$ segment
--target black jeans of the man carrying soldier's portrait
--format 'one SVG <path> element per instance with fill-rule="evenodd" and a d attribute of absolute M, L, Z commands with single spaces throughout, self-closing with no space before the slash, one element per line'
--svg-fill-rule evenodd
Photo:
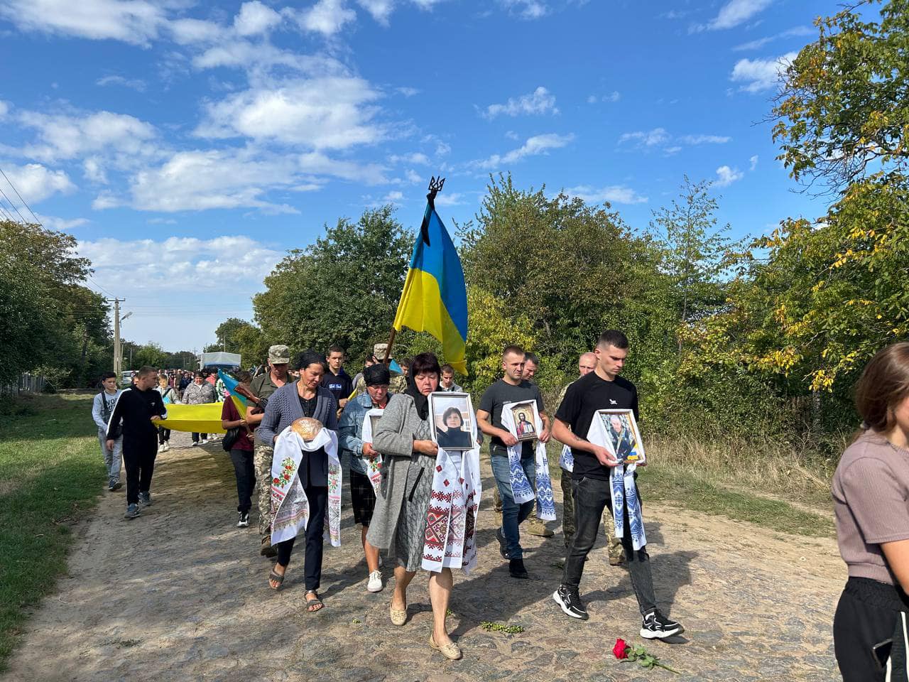
<path fill-rule="evenodd" d="M 584 477 L 580 481 L 572 479 L 574 490 L 574 537 L 568 545 L 562 584 L 571 589 L 578 589 L 581 575 L 584 573 L 584 562 L 594 548 L 596 534 L 599 532 L 603 510 L 610 511 L 613 498 L 609 490 L 609 481 Z M 638 496 L 640 499 L 640 496 Z M 624 532 L 622 548 L 628 562 L 628 573 L 631 574 L 631 585 L 641 615 L 645 616 L 656 608 L 654 595 L 654 577 L 650 571 L 650 556 L 647 547 L 634 550 L 631 544 L 631 528 L 628 527 L 628 515 L 624 515 Z"/>

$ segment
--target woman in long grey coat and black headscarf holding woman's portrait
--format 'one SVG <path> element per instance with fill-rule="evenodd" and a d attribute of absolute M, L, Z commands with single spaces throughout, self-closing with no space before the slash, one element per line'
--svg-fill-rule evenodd
<path fill-rule="evenodd" d="M 395 593 L 391 620 L 407 621 L 407 586 L 423 562 L 426 513 L 433 489 L 438 447 L 429 427 L 428 396 L 439 385 L 439 361 L 432 353 L 416 356 L 410 366 L 411 383 L 392 396 L 373 434 L 373 446 L 382 453 L 382 484 L 375 499 L 373 520 L 366 539 L 384 549 L 395 563 Z M 451 568 L 429 574 L 429 601 L 433 606 L 433 633 L 429 646 L 456 660 L 461 649 L 448 637 L 445 613 L 452 591 Z"/>

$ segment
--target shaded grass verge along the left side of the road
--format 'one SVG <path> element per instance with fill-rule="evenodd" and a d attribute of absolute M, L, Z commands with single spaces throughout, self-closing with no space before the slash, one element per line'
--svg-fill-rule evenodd
<path fill-rule="evenodd" d="M 0 421 L 0 671 L 65 574 L 72 529 L 105 483 L 92 396 L 34 396 Z"/>

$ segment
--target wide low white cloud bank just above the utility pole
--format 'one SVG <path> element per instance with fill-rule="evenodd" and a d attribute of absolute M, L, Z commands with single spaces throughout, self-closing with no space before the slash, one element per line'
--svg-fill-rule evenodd
<path fill-rule="evenodd" d="M 137 293 L 218 289 L 227 280 L 258 285 L 282 257 L 248 236 L 172 236 L 163 241 L 105 237 L 80 241 L 76 250 L 92 261 L 94 278 L 102 286 Z"/>

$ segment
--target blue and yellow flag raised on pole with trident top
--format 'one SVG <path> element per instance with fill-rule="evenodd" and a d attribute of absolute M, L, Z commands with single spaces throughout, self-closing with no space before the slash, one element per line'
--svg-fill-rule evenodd
<path fill-rule="evenodd" d="M 442 181 L 444 182 L 444 181 Z M 464 269 L 451 237 L 435 213 L 435 192 L 442 188 L 435 178 L 426 196 L 423 225 L 395 314 L 395 330 L 409 326 L 429 332 L 442 342 L 445 361 L 467 374 L 467 287 Z"/>

